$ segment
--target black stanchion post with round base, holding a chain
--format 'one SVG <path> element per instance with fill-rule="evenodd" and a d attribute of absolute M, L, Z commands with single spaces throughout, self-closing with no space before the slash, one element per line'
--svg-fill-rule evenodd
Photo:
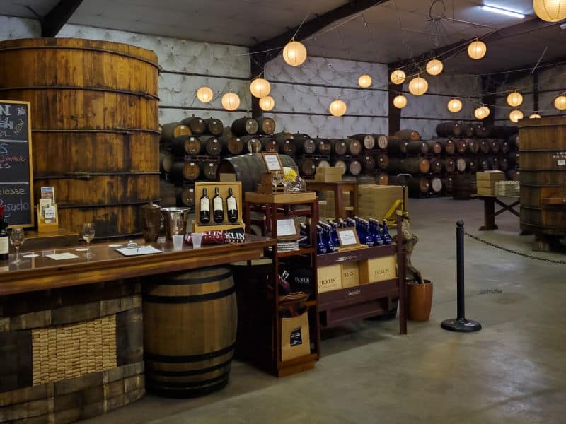
<path fill-rule="evenodd" d="M 464 298 L 464 222 L 456 223 L 456 297 L 457 311 L 456 319 L 446 319 L 441 327 L 449 331 L 471 333 L 480 331 L 482 326 L 479 322 L 466 319 L 466 300 Z"/>

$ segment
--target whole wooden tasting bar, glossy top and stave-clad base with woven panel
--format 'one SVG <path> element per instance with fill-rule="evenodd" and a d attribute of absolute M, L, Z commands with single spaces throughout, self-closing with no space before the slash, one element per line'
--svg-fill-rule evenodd
<path fill-rule="evenodd" d="M 275 240 L 247 235 L 182 250 L 156 243 L 161 253 L 137 257 L 108 244 L 92 245 L 91 259 L 81 245 L 0 264 L 0 423 L 69 423 L 137 401 L 147 370 L 141 287 L 152 283 L 139 277 L 256 259 Z M 79 257 L 43 256 L 53 252 Z"/>

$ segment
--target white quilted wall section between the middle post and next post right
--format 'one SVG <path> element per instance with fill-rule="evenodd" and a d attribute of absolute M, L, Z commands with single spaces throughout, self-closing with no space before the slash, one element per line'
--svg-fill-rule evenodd
<path fill-rule="evenodd" d="M 358 87 L 362 73 L 371 76 L 374 90 Z M 386 65 L 307 57 L 303 65 L 294 67 L 279 56 L 265 67 L 265 78 L 272 81 L 275 99 L 274 110 L 265 116 L 275 119 L 277 131 L 327 138 L 388 131 Z M 328 110 L 336 98 L 347 104 L 344 117 L 333 117 Z"/>

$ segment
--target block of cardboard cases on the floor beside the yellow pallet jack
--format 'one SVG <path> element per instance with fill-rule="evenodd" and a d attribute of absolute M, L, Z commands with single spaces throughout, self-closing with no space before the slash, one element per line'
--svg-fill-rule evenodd
<path fill-rule="evenodd" d="M 405 206 L 408 206 L 405 193 Z M 383 219 L 395 201 L 403 199 L 400 186 L 364 184 L 358 187 L 358 216 Z"/>

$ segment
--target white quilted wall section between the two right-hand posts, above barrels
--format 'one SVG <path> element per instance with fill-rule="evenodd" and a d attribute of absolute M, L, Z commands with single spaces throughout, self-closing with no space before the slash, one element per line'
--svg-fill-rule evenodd
<path fill-rule="evenodd" d="M 427 93 L 415 96 L 409 93 L 409 81 L 403 83 L 407 106 L 401 110 L 401 129 L 419 131 L 422 139 L 436 137 L 436 126 L 446 121 L 473 121 L 473 111 L 481 100 L 481 78 L 475 75 L 422 75 L 429 83 Z M 446 105 L 452 97 L 462 100 L 460 112 L 452 113 Z"/>

